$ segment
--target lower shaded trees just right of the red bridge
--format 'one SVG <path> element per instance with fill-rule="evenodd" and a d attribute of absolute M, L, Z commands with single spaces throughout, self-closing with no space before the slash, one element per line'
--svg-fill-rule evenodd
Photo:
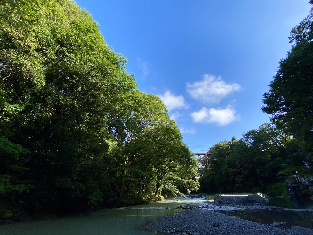
<path fill-rule="evenodd" d="M 295 139 L 264 123 L 243 138 L 214 144 L 209 167 L 200 171 L 200 191 L 207 193 L 265 192 L 268 185 L 284 183 L 296 170 L 306 170 Z"/>

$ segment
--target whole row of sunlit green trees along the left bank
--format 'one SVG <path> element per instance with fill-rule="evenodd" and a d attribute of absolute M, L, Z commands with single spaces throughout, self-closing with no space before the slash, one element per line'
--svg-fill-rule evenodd
<path fill-rule="evenodd" d="M 198 189 L 167 107 L 126 63 L 74 1 L 0 1 L 0 219 Z"/>

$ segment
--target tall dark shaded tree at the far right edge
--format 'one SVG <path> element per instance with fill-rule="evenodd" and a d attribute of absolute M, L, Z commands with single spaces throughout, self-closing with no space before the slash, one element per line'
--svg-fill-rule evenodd
<path fill-rule="evenodd" d="M 310 2 L 312 4 L 312 2 Z M 286 128 L 302 146 L 305 161 L 313 160 L 313 8 L 290 33 L 295 42 L 264 93 L 262 110 Z"/>

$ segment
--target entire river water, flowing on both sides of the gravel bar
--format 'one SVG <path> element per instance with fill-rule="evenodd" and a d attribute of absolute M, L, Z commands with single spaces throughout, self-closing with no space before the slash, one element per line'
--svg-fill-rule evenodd
<path fill-rule="evenodd" d="M 202 206 L 208 204 L 203 201 L 203 198 L 170 198 L 146 205 L 99 210 L 54 220 L 4 225 L 0 227 L 0 235 L 159 235 L 162 233 L 143 228 L 158 217 L 181 211 L 181 209 L 169 210 L 166 209 L 167 207 L 176 208 L 186 205 Z M 227 209 L 223 208 L 223 211 L 220 211 L 211 204 L 209 204 L 208 209 L 264 224 L 272 221 L 285 222 L 289 218 L 288 226 L 311 227 L 313 225 L 312 210 L 239 210 L 239 208 L 227 207 Z"/>

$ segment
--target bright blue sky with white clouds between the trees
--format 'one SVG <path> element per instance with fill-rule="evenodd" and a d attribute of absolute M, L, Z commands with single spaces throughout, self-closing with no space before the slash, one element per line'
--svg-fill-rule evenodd
<path fill-rule="evenodd" d="M 78 0 L 138 89 L 157 94 L 193 153 L 267 122 L 262 95 L 308 0 Z"/>

